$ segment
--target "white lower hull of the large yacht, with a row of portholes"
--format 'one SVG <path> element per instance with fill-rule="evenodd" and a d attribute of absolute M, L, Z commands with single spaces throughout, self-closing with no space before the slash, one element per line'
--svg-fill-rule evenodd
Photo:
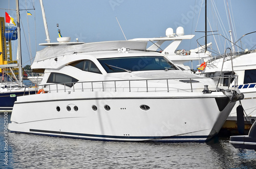
<path fill-rule="evenodd" d="M 9 130 L 105 141 L 204 142 L 219 132 L 235 104 L 220 106 L 223 100 L 229 98 L 222 92 L 34 94 L 15 102 Z"/>

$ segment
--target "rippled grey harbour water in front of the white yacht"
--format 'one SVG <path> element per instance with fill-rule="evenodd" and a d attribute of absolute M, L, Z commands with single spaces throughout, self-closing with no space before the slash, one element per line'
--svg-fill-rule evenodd
<path fill-rule="evenodd" d="M 9 132 L 7 151 L 3 113 L 0 127 L 0 168 L 256 168 L 255 151 L 235 149 L 227 138 L 207 143 L 136 143 Z"/>

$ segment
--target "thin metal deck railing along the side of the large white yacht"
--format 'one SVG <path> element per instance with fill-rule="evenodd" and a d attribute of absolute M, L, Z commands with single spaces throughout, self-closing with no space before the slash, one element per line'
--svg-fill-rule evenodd
<path fill-rule="evenodd" d="M 64 92 L 75 92 L 77 90 L 79 91 L 84 91 L 84 90 L 90 90 L 90 91 L 96 91 L 97 89 L 100 91 L 106 91 L 106 89 L 113 89 L 114 91 L 120 91 L 120 89 L 126 89 L 127 91 L 131 92 L 132 88 L 136 88 L 137 91 L 139 91 L 139 89 L 143 89 L 140 91 L 165 91 L 165 92 L 169 92 L 170 90 L 184 90 L 184 91 L 190 91 L 193 92 L 193 90 L 195 90 L 196 88 L 193 88 L 193 83 L 197 83 L 200 79 L 204 79 L 207 77 L 198 77 L 198 78 L 168 78 L 168 79 L 140 79 L 140 80 L 110 80 L 110 81 L 87 81 L 87 82 L 69 82 L 69 83 L 54 83 L 54 84 L 45 84 L 45 85 L 38 85 L 38 90 L 41 89 L 44 90 L 44 92 L 59 92 L 60 90 L 64 91 Z M 228 76 L 221 76 L 221 77 L 211 77 L 211 78 L 228 78 L 229 82 L 231 82 L 231 79 L 234 78 L 234 84 L 237 84 L 237 76 L 236 75 L 228 75 Z M 189 87 L 186 89 L 180 89 L 180 88 L 172 88 L 172 86 L 170 85 L 169 81 L 170 80 L 178 80 L 184 82 L 184 83 L 189 83 Z M 136 82 L 145 82 L 143 86 L 140 85 L 134 87 L 136 84 Z M 161 85 L 160 87 L 150 87 L 148 86 L 148 82 L 153 82 L 153 81 L 161 81 L 162 84 L 166 84 L 166 85 Z M 165 82 L 164 82 L 165 81 Z M 118 86 L 117 84 L 119 82 L 122 82 L 123 86 Z M 127 83 L 125 83 L 127 82 Z M 78 85 L 80 84 L 80 85 Z M 72 86 L 72 87 L 68 87 L 68 86 Z M 200 89 L 203 89 L 204 86 L 200 87 Z M 229 88 L 229 86 L 227 86 Z M 236 85 L 234 85 L 234 88 L 236 87 Z M 152 90 L 153 88 L 155 88 L 155 90 Z M 161 90 L 156 90 L 156 88 L 161 88 Z M 119 89 L 119 90 L 118 90 Z M 151 89 L 151 90 L 150 90 Z M 198 89 L 198 88 L 197 88 Z M 44 93 L 41 92 L 41 93 Z"/>

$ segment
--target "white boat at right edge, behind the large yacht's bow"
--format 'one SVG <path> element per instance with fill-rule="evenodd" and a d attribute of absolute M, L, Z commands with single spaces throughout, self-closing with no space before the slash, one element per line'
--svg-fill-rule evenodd
<path fill-rule="evenodd" d="M 255 32 L 252 32 L 255 33 Z M 242 36 L 246 38 L 246 35 Z M 240 38 L 233 46 L 244 44 Z M 232 47 L 233 48 L 233 47 Z M 242 46 L 239 46 L 242 49 Z M 238 87 L 244 94 L 244 100 L 237 102 L 236 106 L 230 112 L 230 116 L 224 125 L 226 129 L 237 129 L 237 109 L 240 104 L 243 106 L 245 112 L 245 129 L 249 131 L 250 126 L 256 120 L 256 50 L 244 49 L 242 52 L 233 52 L 228 50 L 227 56 L 224 55 L 213 57 L 206 61 L 204 70 L 198 71 L 199 74 L 206 77 L 211 77 L 220 87 Z M 238 81 L 233 81 L 231 75 L 238 75 Z M 222 77 L 219 80 L 219 77 Z M 217 78 L 216 78 L 217 77 Z"/>

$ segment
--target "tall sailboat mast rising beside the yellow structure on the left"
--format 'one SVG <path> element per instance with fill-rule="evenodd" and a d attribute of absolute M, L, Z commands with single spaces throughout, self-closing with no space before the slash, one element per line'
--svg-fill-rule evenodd
<path fill-rule="evenodd" d="M 23 69 L 22 69 L 22 46 L 20 40 L 20 26 L 19 26 L 19 4 L 16 0 L 16 14 L 17 14 L 17 36 L 18 36 L 18 76 L 19 76 L 19 86 L 23 86 Z"/>

